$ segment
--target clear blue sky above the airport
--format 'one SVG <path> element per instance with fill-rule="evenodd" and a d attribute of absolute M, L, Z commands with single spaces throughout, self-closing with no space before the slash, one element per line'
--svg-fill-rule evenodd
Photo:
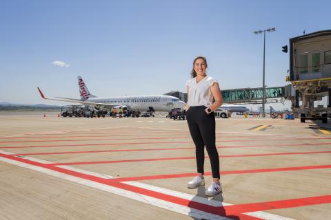
<path fill-rule="evenodd" d="M 208 59 L 221 89 L 285 85 L 294 36 L 329 30 L 330 1 L 0 1 L 0 102 L 63 104 L 77 76 L 97 96 L 185 91 Z M 54 61 L 66 63 L 65 67 Z"/>

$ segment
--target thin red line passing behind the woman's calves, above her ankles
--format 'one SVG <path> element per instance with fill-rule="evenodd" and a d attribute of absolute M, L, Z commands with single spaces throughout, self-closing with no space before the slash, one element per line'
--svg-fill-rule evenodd
<path fill-rule="evenodd" d="M 297 154 L 317 154 L 317 153 L 331 153 L 331 151 L 313 151 L 313 152 L 290 152 L 290 153 L 260 153 L 260 154 L 243 154 L 243 155 L 220 155 L 221 158 L 228 157 L 261 157 L 261 156 L 275 156 L 275 155 L 297 155 Z M 208 157 L 205 157 L 208 158 Z M 68 162 L 68 163 L 52 163 L 53 166 L 59 165 L 87 165 L 87 164 L 114 164 L 126 162 L 148 162 L 148 161 L 163 161 L 163 160 L 177 160 L 177 159 L 195 159 L 195 157 L 163 157 L 163 158 L 150 158 L 150 159 L 121 159 L 121 160 L 108 160 L 97 162 Z"/>

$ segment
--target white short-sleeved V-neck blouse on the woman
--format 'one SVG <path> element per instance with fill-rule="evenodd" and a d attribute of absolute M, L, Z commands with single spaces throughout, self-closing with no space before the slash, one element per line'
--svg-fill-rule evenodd
<path fill-rule="evenodd" d="M 188 106 L 199 106 L 204 105 L 205 107 L 209 107 L 212 104 L 212 91 L 210 87 L 217 82 L 216 79 L 205 76 L 199 83 L 197 83 L 197 79 L 191 78 L 186 82 L 186 87 L 188 89 Z"/>

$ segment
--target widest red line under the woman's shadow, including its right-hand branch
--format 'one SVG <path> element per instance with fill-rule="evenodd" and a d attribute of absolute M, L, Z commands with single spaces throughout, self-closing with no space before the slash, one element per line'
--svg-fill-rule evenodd
<path fill-rule="evenodd" d="M 27 159 L 13 157 L 11 155 L 3 155 L 0 154 L 2 157 L 6 157 L 8 159 L 14 159 L 19 162 L 23 162 L 26 164 L 32 164 L 35 166 L 41 166 L 43 168 L 48 168 L 50 170 L 57 171 L 59 173 L 65 173 L 67 175 L 72 175 L 74 177 L 79 177 L 82 179 L 88 179 L 90 181 L 98 182 L 101 184 L 106 184 L 108 186 L 114 186 L 117 188 L 121 188 L 123 190 L 129 190 L 131 192 L 137 192 L 141 195 L 147 195 L 150 197 L 154 197 L 157 199 L 162 199 L 163 201 L 169 201 L 172 203 L 177 203 L 182 206 L 188 206 L 190 208 L 194 208 L 197 210 L 202 210 L 204 212 L 210 212 L 212 214 L 219 214 L 223 217 L 230 217 L 232 219 L 245 219 L 245 220 L 252 220 L 252 219 L 259 219 L 255 217 L 248 217 L 247 215 L 243 214 L 245 212 L 257 212 L 263 210 L 274 210 L 280 208 L 294 208 L 294 207 L 301 207 L 301 206 L 312 206 L 312 205 L 319 205 L 324 203 L 331 203 L 331 195 L 323 195 L 317 197 L 308 197 L 308 198 L 299 198 L 299 199 L 284 199 L 279 201 L 265 201 L 260 203 L 246 203 L 246 204 L 239 204 L 233 206 L 225 206 L 225 207 L 213 207 L 203 203 L 199 203 L 196 201 L 190 201 L 187 199 L 181 199 L 178 197 L 174 197 L 171 195 L 166 195 L 161 192 L 154 192 L 152 190 L 146 190 L 144 188 L 139 188 L 137 186 L 130 186 L 127 184 L 123 184 L 119 182 L 119 179 L 103 179 L 100 177 L 95 177 L 92 175 L 86 175 L 83 173 L 78 173 L 72 170 L 66 170 L 64 168 L 59 168 L 56 166 L 50 166 L 49 164 L 40 164 L 37 162 L 28 161 Z M 331 166 L 331 165 L 328 165 Z M 196 175 L 196 174 L 194 174 Z M 123 179 L 123 178 L 122 178 Z"/>

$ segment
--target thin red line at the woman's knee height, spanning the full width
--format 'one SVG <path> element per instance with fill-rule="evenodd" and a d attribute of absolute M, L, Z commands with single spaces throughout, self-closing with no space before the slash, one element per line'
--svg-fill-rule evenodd
<path fill-rule="evenodd" d="M 139 144 L 185 144 L 192 142 L 137 142 L 137 143 L 105 143 L 105 144 L 58 144 L 58 145 L 32 145 L 32 146 L 1 146 L 5 148 L 34 148 L 34 147 L 61 147 L 61 146 L 112 146 L 112 145 L 139 145 Z M 311 143 L 311 144 L 274 144 L 274 145 L 237 145 L 237 146 L 217 146 L 217 148 L 241 148 L 241 147 L 278 147 L 278 146 L 316 146 L 316 145 L 331 145 L 331 142 Z"/>

